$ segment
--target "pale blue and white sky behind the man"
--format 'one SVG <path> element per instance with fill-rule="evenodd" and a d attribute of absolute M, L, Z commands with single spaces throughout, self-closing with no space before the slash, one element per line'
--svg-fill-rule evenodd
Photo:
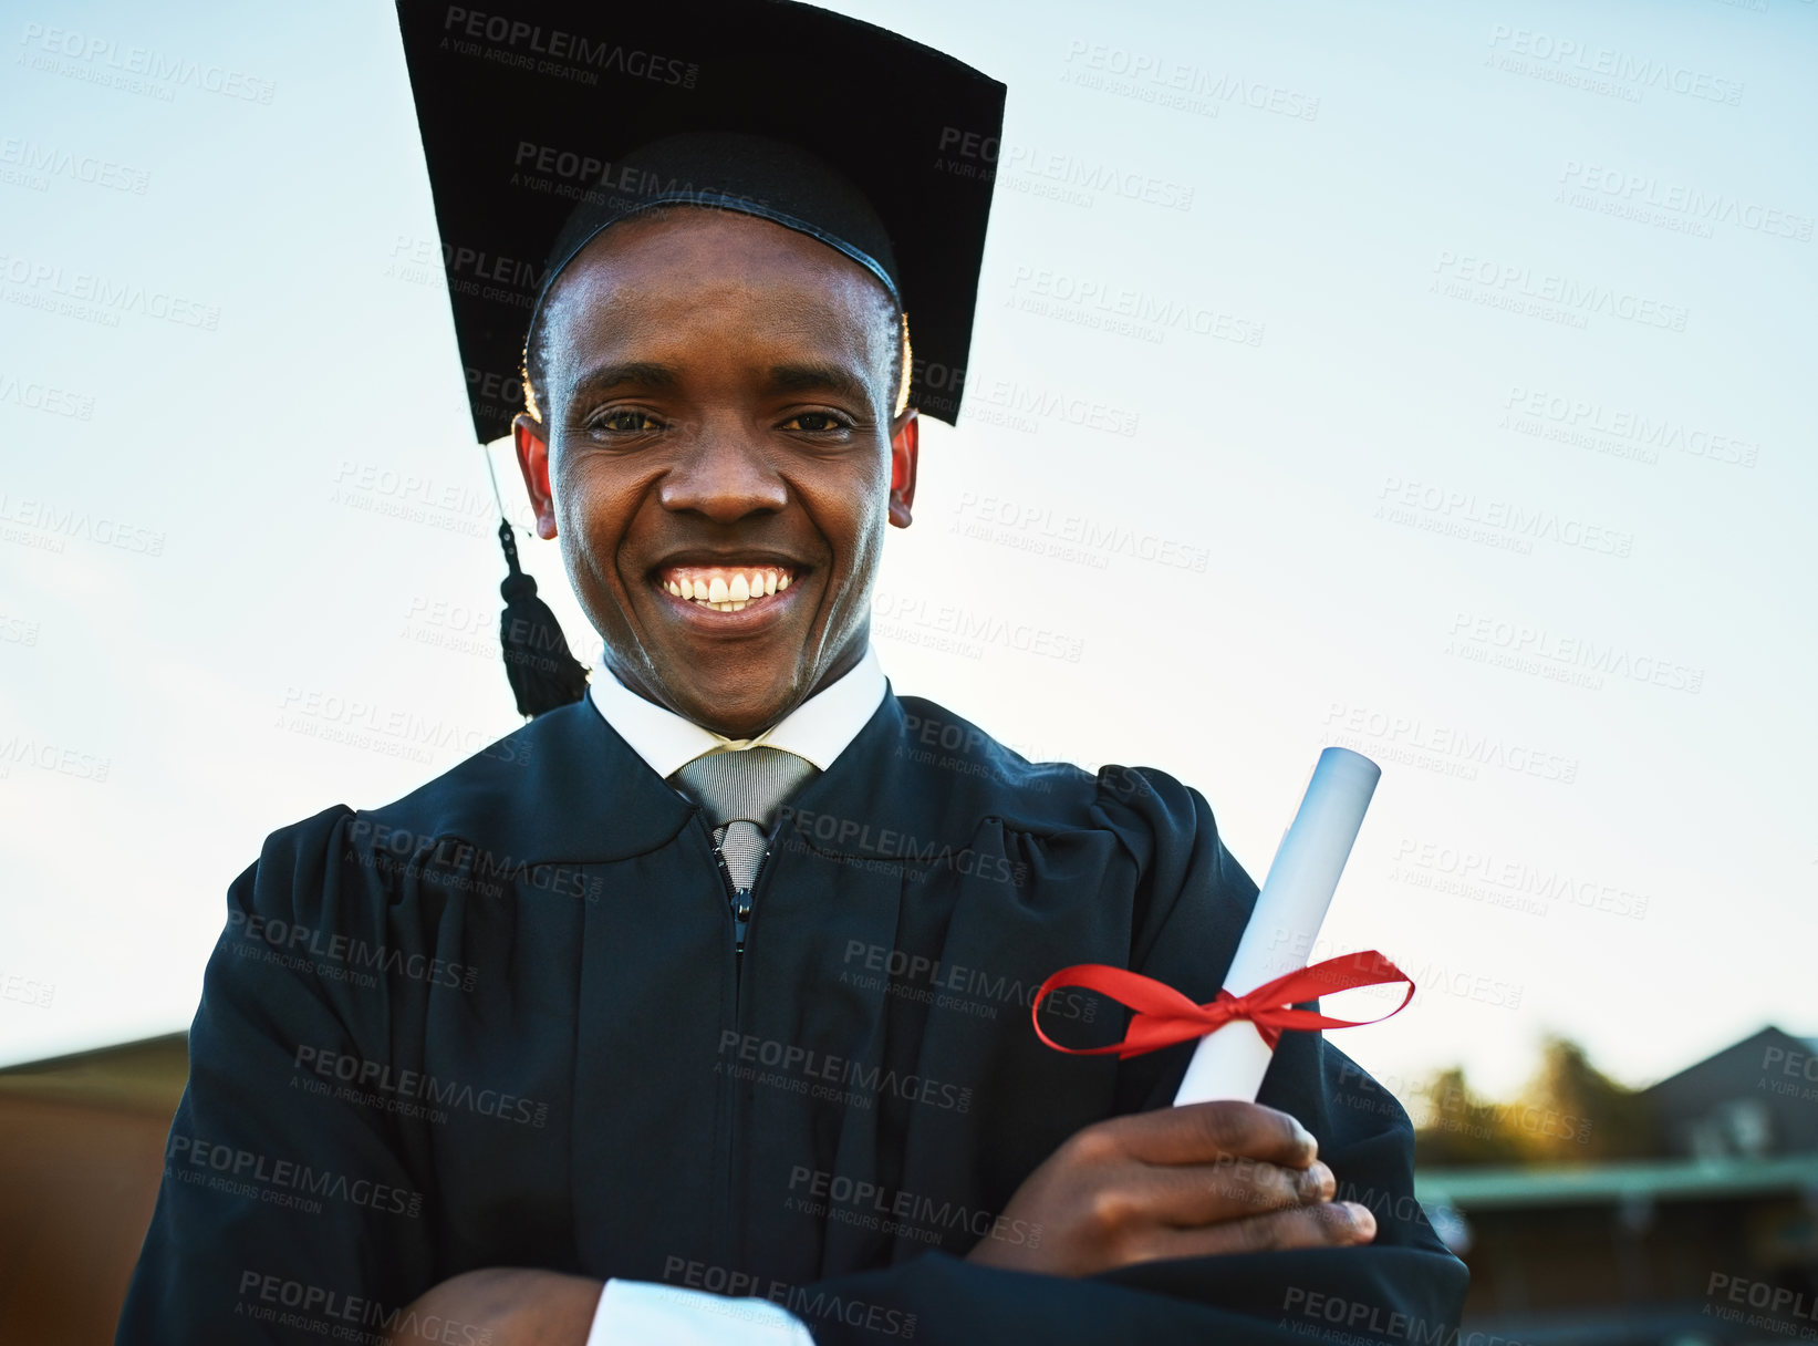
<path fill-rule="evenodd" d="M 1336 1039 L 1403 1091 L 1818 1031 L 1818 4 L 834 7 L 1009 84 L 896 689 L 1258 880 L 1378 760 L 1318 953 L 1422 984 Z M 0 20 L 0 1064 L 184 1028 L 269 831 L 516 726 L 391 7 L 225 13 Z"/>

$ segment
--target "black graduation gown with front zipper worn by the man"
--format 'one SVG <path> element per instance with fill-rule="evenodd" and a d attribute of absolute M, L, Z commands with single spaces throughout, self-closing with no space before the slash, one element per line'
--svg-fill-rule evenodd
<path fill-rule="evenodd" d="M 1109 962 L 1211 1000 L 1254 897 L 1169 775 L 1029 764 L 885 695 L 785 809 L 734 953 L 700 809 L 589 702 L 547 713 L 235 880 L 118 1342 L 384 1333 L 482 1266 L 764 1295 L 825 1342 L 1451 1341 L 1467 1275 L 1413 1200 L 1407 1117 L 1316 1033 L 1260 1100 L 1373 1246 L 964 1261 L 1038 1239 L 1000 1219 L 1024 1177 L 1165 1106 L 1191 1053 L 1053 1051 L 1034 988 Z M 1051 1035 L 1122 1031 L 1069 995 Z"/>

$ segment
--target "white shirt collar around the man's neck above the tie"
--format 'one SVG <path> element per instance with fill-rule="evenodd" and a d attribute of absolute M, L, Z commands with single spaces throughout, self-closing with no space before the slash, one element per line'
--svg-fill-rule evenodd
<path fill-rule="evenodd" d="M 631 744 L 651 771 L 665 780 L 680 768 L 704 753 L 714 749 L 733 751 L 736 748 L 782 748 L 784 751 L 805 757 L 825 771 L 845 746 L 858 737 L 873 713 L 884 702 L 889 682 L 884 678 L 884 666 L 878 651 L 865 646 L 865 657 L 789 715 L 756 738 L 727 738 L 704 729 L 693 720 L 684 720 L 667 706 L 644 700 L 638 693 L 613 677 L 602 660 L 593 673 L 587 695 L 602 718 L 618 731 L 618 737 Z M 727 746 L 733 748 L 727 748 Z"/>

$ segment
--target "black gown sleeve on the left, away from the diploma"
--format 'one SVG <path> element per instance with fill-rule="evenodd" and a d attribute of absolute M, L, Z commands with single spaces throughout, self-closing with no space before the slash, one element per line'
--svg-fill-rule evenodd
<path fill-rule="evenodd" d="M 189 1084 L 116 1346 L 367 1341 L 431 1282 L 433 1186 L 396 1119 L 338 1091 L 389 1059 L 387 891 L 347 862 L 353 815 L 267 839 L 227 893 Z"/>

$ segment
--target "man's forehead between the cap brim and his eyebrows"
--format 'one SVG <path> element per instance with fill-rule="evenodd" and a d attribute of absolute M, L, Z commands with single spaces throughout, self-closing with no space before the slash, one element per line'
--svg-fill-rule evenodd
<path fill-rule="evenodd" d="M 880 331 L 894 335 L 894 322 L 889 293 L 844 253 L 771 220 L 694 206 L 602 229 L 544 306 L 553 344 L 751 324 L 820 327 L 869 344 Z"/>

